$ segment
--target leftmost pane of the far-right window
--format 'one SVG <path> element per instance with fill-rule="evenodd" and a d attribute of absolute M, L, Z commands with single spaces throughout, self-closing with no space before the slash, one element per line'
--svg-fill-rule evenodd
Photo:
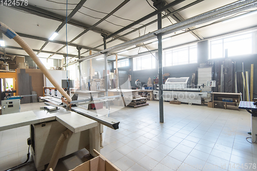
<path fill-rule="evenodd" d="M 210 41 L 210 59 L 223 57 L 223 40 Z"/>

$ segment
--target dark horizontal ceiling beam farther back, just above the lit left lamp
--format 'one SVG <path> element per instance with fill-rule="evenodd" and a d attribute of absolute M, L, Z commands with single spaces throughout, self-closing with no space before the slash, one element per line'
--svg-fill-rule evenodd
<path fill-rule="evenodd" d="M 16 32 L 17 33 L 17 32 Z M 39 37 L 39 36 L 32 36 L 32 35 L 29 35 L 29 34 L 23 34 L 23 33 L 17 33 L 19 36 L 21 37 L 26 37 L 26 38 L 32 38 L 32 39 L 36 39 L 36 40 L 43 40 L 43 41 L 47 41 L 49 40 L 48 38 L 44 38 L 44 37 Z M 56 44 L 61 44 L 61 45 L 66 45 L 66 42 L 65 41 L 59 41 L 59 40 L 50 40 L 50 42 L 53 42 L 53 43 L 56 43 Z M 80 47 L 80 48 L 83 48 L 83 49 L 91 49 L 90 47 L 87 47 L 87 46 L 81 46 L 81 45 L 76 45 L 76 44 L 69 44 L 69 46 L 73 46 L 73 47 Z M 101 51 L 100 49 L 94 49 L 94 51 Z"/>

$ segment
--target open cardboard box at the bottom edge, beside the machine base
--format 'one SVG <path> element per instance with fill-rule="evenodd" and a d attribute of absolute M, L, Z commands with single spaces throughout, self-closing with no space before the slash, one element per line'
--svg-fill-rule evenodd
<path fill-rule="evenodd" d="M 100 153 L 98 153 L 97 155 L 99 156 L 95 157 L 94 159 L 88 160 L 85 163 L 82 163 L 81 165 L 69 171 L 121 171 L 121 169 L 115 166 L 103 155 L 101 155 Z"/>

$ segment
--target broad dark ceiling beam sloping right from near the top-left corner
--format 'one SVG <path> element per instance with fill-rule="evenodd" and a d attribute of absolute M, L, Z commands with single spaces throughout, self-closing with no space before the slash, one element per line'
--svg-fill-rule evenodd
<path fill-rule="evenodd" d="M 47 10 L 44 10 L 42 8 L 35 7 L 35 6 L 29 5 L 29 4 L 27 6 L 23 5 L 23 6 L 9 6 L 9 7 L 13 8 L 13 9 L 16 9 L 16 10 L 27 12 L 27 13 L 30 13 L 30 14 L 34 14 L 34 15 L 37 15 L 37 16 L 40 16 L 40 17 L 56 20 L 58 22 L 63 22 L 63 20 L 66 20 L 65 16 L 62 16 L 60 14 L 50 12 L 50 11 L 47 11 Z M 75 19 L 70 19 L 68 24 L 70 24 L 72 26 L 82 28 L 82 29 L 88 29 L 88 28 L 91 27 L 91 25 L 79 22 L 78 20 L 75 20 Z M 100 29 L 100 28 L 97 28 L 97 27 L 91 29 L 91 31 L 94 31 L 94 32 L 99 33 L 99 34 L 105 34 L 105 35 L 112 34 L 112 32 L 109 32 L 109 31 L 106 31 L 106 30 L 103 30 L 103 29 Z M 119 40 L 128 41 L 129 39 L 127 39 L 125 37 L 120 37 Z"/>

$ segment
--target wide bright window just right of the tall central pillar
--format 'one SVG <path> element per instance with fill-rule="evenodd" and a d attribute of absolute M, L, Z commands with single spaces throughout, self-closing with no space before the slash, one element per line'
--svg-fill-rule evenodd
<path fill-rule="evenodd" d="M 164 52 L 162 66 L 197 63 L 197 44 L 191 44 Z"/>

